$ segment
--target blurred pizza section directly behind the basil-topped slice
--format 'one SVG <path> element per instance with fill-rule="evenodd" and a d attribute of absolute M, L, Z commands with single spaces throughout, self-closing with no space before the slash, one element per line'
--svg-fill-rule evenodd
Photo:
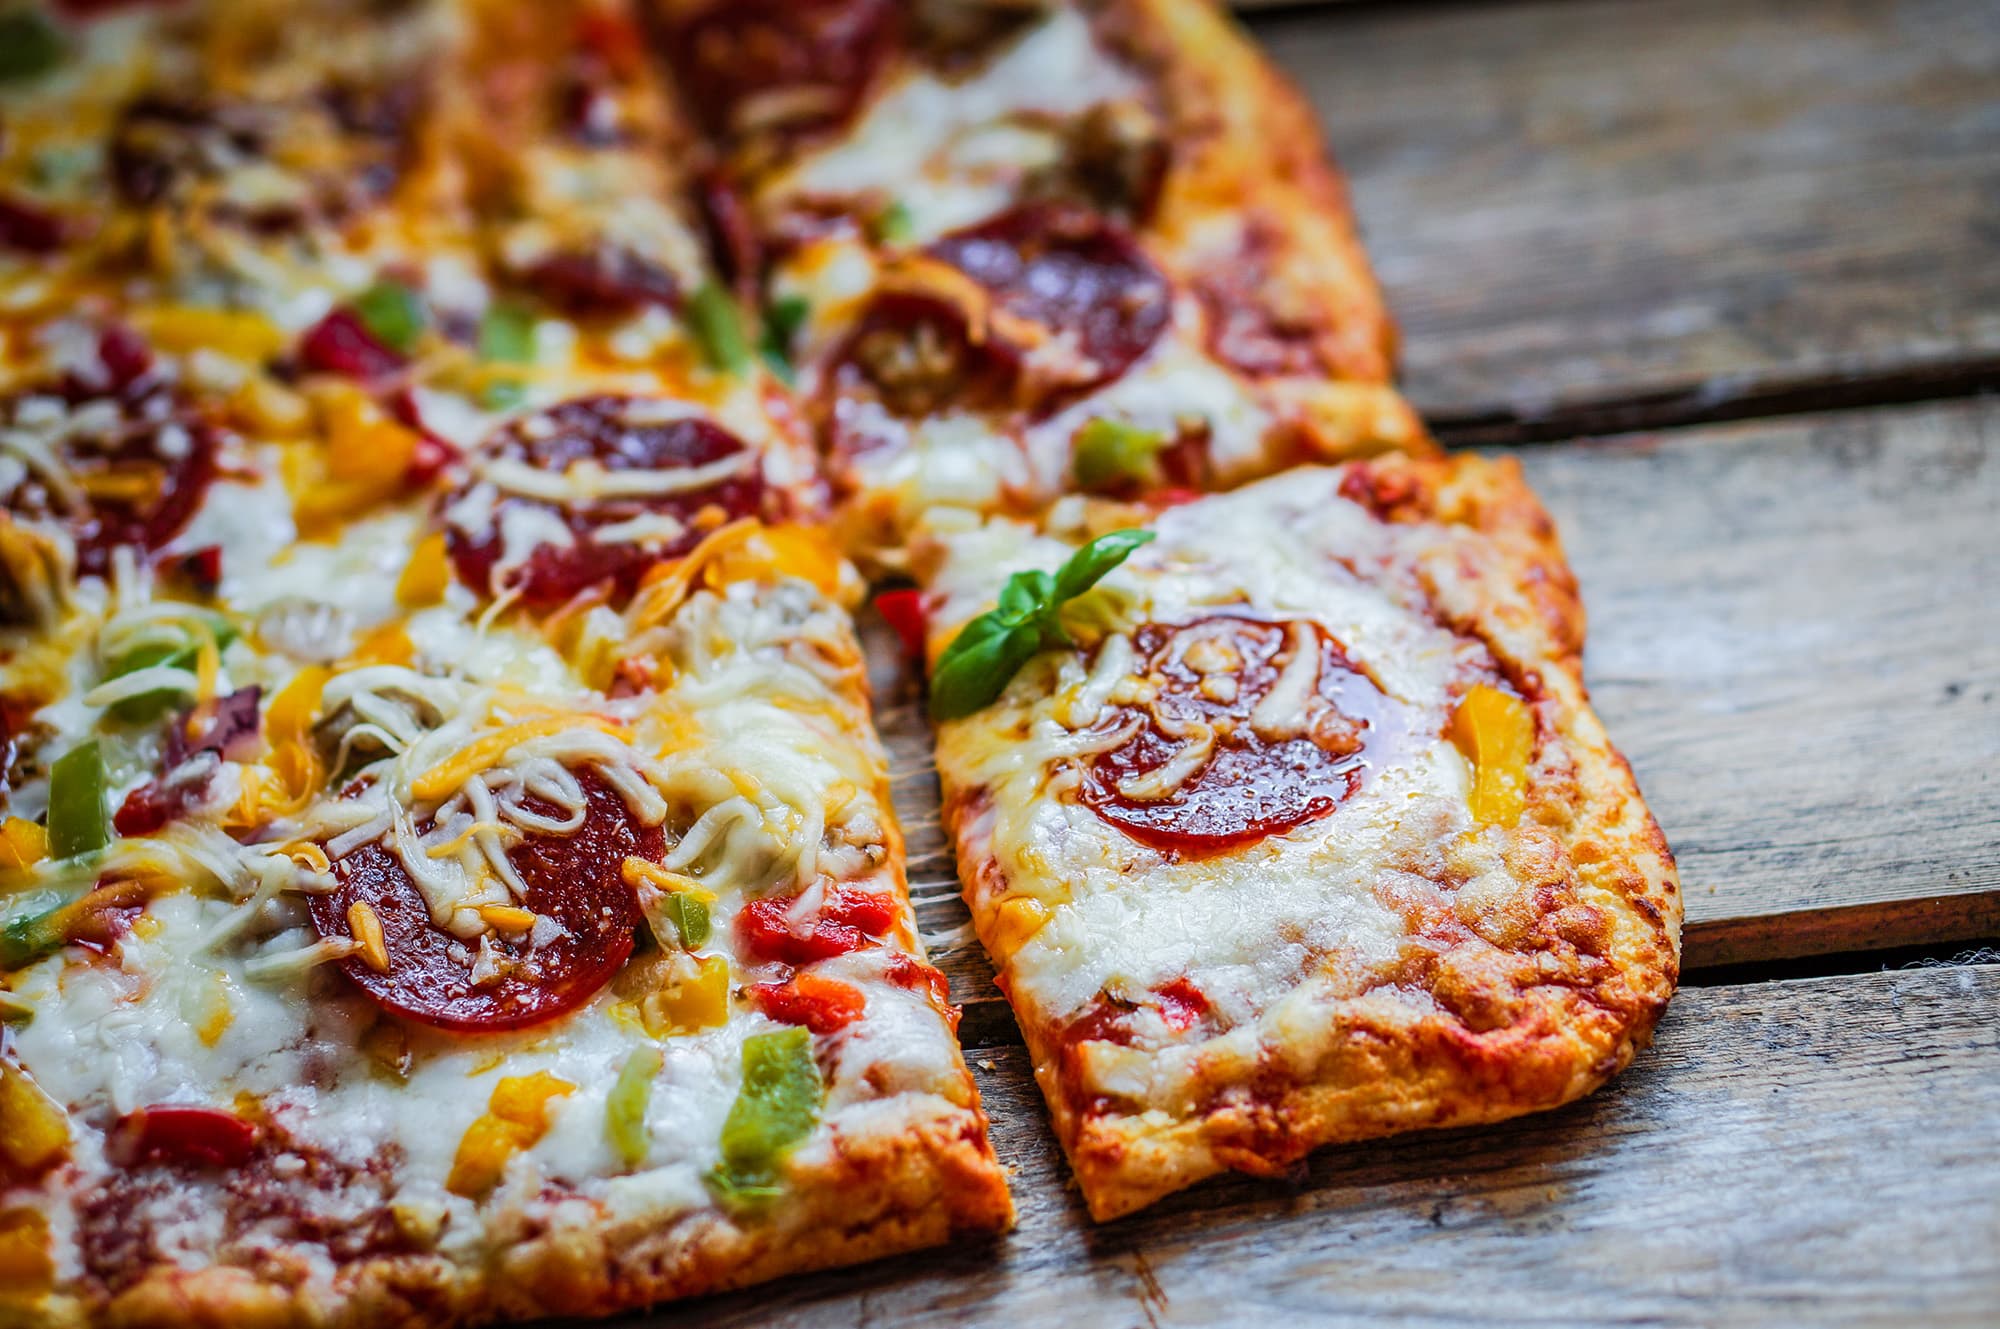
<path fill-rule="evenodd" d="M 658 0 L 850 546 L 1420 450 L 1298 96 L 1202 0 Z"/>

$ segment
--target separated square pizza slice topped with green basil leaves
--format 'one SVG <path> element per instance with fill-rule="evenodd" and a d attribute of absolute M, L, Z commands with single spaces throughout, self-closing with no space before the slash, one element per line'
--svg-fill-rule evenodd
<path fill-rule="evenodd" d="M 1674 861 L 1514 462 L 938 512 L 944 819 L 1090 1211 L 1568 1103 L 1674 991 Z"/>

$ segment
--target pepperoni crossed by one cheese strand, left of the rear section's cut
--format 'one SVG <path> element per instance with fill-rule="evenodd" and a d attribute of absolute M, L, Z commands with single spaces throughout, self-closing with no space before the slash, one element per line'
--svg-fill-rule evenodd
<path fill-rule="evenodd" d="M 712 466 L 732 456 L 742 464 L 700 484 L 652 494 L 604 496 L 586 502 L 550 502 L 498 488 L 490 506 L 476 502 L 480 486 L 494 486 L 478 474 L 444 502 L 446 548 L 458 576 L 478 590 L 498 594 L 518 588 L 530 606 L 560 604 L 586 586 L 612 582 L 630 594 L 648 566 L 688 552 L 708 530 L 726 520 L 768 514 L 776 494 L 742 438 L 720 424 L 694 416 L 662 418 L 660 404 L 634 396 L 580 396 L 560 406 L 512 420 L 486 440 L 482 456 L 522 462 L 560 476 L 580 462 L 606 472 L 684 470 Z M 474 502 L 466 502 L 466 500 Z M 542 540 L 534 550 L 500 568 L 508 550 L 510 524 L 534 530 L 534 522 L 510 518 L 510 508 L 540 506 L 568 530 L 568 542 Z M 478 512 L 474 520 L 468 512 Z M 598 538 L 604 526 L 658 514 L 678 522 L 678 534 L 646 540 Z"/>

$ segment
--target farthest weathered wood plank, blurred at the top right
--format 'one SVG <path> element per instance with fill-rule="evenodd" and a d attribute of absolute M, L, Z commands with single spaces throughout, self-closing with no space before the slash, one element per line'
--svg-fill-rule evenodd
<path fill-rule="evenodd" d="M 2000 382 L 1990 0 L 1334 6 L 1252 28 L 1350 172 L 1412 398 L 1448 436 Z"/>

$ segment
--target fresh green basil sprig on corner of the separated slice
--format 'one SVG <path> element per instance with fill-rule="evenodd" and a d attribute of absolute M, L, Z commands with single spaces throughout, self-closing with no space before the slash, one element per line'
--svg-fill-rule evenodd
<path fill-rule="evenodd" d="M 1008 576 L 998 608 L 968 622 L 938 656 L 930 675 L 930 719 L 956 721 L 980 711 L 1038 650 L 1066 644 L 1062 606 L 1148 540 L 1150 530 L 1112 530 L 1070 554 L 1054 576 L 1040 570 Z"/>

